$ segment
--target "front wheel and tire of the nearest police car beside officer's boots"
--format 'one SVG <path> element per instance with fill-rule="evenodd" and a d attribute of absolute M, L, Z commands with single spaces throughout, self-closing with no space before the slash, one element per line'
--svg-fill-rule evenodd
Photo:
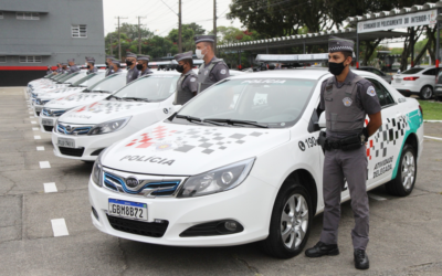
<path fill-rule="evenodd" d="M 269 236 L 262 248 L 276 258 L 298 255 L 307 243 L 313 221 L 308 191 L 297 180 L 287 179 L 273 205 Z"/>

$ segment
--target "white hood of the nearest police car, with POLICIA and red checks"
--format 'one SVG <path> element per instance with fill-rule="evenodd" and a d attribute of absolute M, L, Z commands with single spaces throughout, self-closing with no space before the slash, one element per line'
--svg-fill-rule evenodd
<path fill-rule="evenodd" d="M 288 140 L 288 129 L 160 121 L 114 144 L 102 163 L 135 173 L 194 176 L 256 157 Z"/>

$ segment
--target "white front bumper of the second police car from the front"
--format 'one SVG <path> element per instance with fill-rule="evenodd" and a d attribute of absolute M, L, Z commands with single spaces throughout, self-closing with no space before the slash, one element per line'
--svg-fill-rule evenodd
<path fill-rule="evenodd" d="M 105 135 L 82 135 L 82 136 L 74 136 L 74 135 L 61 135 L 59 132 L 52 132 L 52 145 L 54 146 L 54 155 L 62 158 L 69 159 L 76 159 L 76 160 L 84 160 L 84 161 L 95 161 L 98 157 L 98 153 L 94 153 L 99 149 L 107 148 L 112 146 L 114 142 L 119 141 L 127 136 L 131 135 L 135 131 L 128 131 L 129 128 L 126 126 L 124 129 Z M 127 129 L 126 129 L 127 128 Z M 75 148 L 69 149 L 65 153 L 62 153 L 61 149 L 57 146 L 59 138 L 69 138 L 75 141 Z M 83 149 L 83 153 L 82 152 Z M 92 156 L 92 153 L 94 153 Z M 78 156 L 81 155 L 81 156 Z"/>

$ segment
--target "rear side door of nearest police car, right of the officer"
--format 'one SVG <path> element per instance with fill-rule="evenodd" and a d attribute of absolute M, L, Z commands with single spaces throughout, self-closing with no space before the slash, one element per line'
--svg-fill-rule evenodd
<path fill-rule="evenodd" d="M 367 77 L 375 87 L 381 106 L 382 125 L 369 138 L 366 149 L 368 158 L 367 187 L 391 179 L 401 148 L 406 118 L 399 110 L 388 89 L 377 79 Z M 368 120 L 367 120 L 368 121 Z"/>

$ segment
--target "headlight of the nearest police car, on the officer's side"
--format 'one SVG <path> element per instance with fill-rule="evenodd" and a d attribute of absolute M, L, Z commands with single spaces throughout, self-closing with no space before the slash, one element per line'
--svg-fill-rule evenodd
<path fill-rule="evenodd" d="M 249 176 L 255 158 L 190 177 L 182 185 L 178 198 L 191 198 L 223 192 L 241 184 Z"/>

